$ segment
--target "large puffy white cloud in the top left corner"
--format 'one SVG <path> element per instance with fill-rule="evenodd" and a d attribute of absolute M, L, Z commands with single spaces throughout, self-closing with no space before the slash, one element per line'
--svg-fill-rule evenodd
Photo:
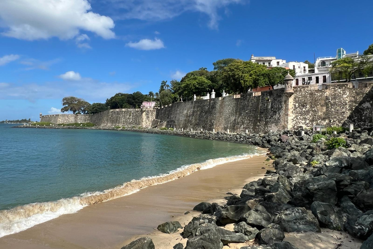
<path fill-rule="evenodd" d="M 85 30 L 114 38 L 114 21 L 89 10 L 88 0 L 0 0 L 1 34 L 24 40 L 71 39 Z"/>

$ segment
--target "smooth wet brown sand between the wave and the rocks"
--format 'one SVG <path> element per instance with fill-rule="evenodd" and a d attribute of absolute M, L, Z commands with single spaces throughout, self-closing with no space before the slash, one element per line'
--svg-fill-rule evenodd
<path fill-rule="evenodd" d="M 261 178 L 266 171 L 262 167 L 272 168 L 266 158 L 256 156 L 221 164 L 85 207 L 4 236 L 0 238 L 0 249 L 120 249 L 134 236 L 150 234 L 159 224 L 177 220 L 199 202 L 220 199 L 246 182 Z"/>

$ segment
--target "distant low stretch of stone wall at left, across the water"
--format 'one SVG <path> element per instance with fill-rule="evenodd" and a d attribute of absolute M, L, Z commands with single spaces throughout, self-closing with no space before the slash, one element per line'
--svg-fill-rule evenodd
<path fill-rule="evenodd" d="M 57 114 L 42 116 L 40 122 L 53 124 L 93 123 L 102 127 L 141 126 L 150 127 L 155 118 L 153 109 L 113 109 L 97 114 Z"/>

